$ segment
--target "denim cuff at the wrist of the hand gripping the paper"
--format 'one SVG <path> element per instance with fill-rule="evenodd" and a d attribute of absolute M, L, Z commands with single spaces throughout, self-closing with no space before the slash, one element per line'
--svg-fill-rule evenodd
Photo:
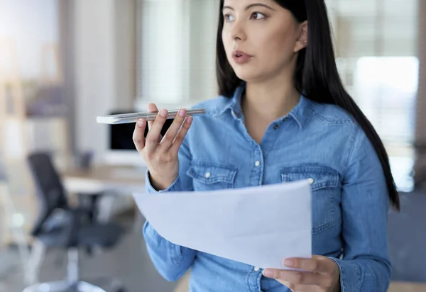
<path fill-rule="evenodd" d="M 344 259 L 336 259 L 335 257 L 329 257 L 329 259 L 334 260 L 339 266 L 342 292 L 359 292 L 361 288 L 361 270 L 359 266 Z"/>

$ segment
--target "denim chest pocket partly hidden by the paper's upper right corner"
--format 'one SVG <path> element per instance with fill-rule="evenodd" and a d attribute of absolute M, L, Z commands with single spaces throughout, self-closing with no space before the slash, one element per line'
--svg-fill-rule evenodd
<path fill-rule="evenodd" d="M 339 173 L 329 167 L 300 166 L 282 169 L 283 182 L 308 180 L 312 190 L 312 234 L 334 225 Z"/>

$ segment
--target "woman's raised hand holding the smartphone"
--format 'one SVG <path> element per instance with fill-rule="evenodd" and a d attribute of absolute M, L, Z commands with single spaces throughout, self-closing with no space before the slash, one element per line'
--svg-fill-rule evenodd
<path fill-rule="evenodd" d="M 148 111 L 158 111 L 158 108 L 155 104 L 149 103 Z M 161 129 L 167 115 L 167 110 L 163 109 L 158 112 L 155 120 L 148 122 L 149 130 L 146 138 L 144 137 L 146 120 L 139 119 L 133 132 L 133 142 L 148 164 L 151 185 L 157 190 L 167 189 L 178 178 L 179 148 L 192 123 L 191 116 L 185 118 L 187 111 L 180 109 L 167 133 L 162 137 Z"/>

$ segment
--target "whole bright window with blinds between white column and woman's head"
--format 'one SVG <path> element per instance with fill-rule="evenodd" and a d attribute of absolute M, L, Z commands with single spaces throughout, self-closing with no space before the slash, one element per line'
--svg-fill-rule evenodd
<path fill-rule="evenodd" d="M 137 107 L 189 106 L 217 95 L 219 0 L 138 1 Z"/>

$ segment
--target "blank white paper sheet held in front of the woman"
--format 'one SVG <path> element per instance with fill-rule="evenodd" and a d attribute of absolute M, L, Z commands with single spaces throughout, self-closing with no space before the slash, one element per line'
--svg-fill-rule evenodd
<path fill-rule="evenodd" d="M 311 257 L 307 181 L 204 192 L 133 194 L 166 240 L 262 269 L 287 257 Z"/>

